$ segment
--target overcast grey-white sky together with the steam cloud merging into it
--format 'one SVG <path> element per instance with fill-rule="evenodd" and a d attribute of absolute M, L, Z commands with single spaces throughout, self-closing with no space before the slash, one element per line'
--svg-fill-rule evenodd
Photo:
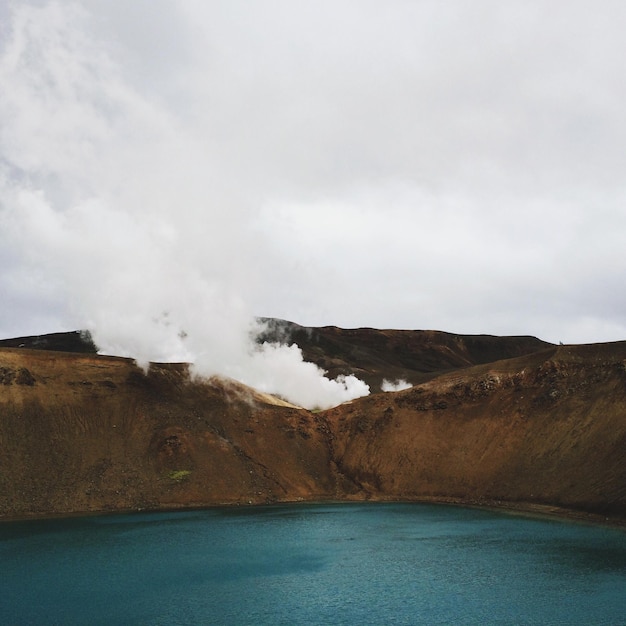
<path fill-rule="evenodd" d="M 625 27 L 612 0 L 0 0 L 0 336 L 322 404 L 366 390 L 251 349 L 255 316 L 624 340 Z"/>

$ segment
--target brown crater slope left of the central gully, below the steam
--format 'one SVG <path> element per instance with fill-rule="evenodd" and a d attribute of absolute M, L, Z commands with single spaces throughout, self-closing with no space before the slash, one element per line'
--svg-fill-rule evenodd
<path fill-rule="evenodd" d="M 187 366 L 0 349 L 0 516 L 324 497 L 320 418 Z"/>

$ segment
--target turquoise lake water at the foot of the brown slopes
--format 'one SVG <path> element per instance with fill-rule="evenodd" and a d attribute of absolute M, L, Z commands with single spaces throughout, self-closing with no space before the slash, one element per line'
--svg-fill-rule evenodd
<path fill-rule="evenodd" d="M 0 524 L 2 624 L 626 624 L 626 533 L 424 504 Z"/>

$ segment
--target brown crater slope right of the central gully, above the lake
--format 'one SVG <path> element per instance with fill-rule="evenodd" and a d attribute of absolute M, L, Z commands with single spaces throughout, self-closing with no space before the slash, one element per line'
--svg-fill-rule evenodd
<path fill-rule="evenodd" d="M 554 347 L 326 416 L 335 462 L 374 497 L 626 518 L 626 342 Z"/>

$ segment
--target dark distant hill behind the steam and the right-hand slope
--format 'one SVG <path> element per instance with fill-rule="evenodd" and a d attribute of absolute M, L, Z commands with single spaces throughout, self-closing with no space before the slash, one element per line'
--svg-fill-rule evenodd
<path fill-rule="evenodd" d="M 456 335 L 435 330 L 343 329 L 300 326 L 264 318 L 260 341 L 296 343 L 305 361 L 315 363 L 330 378 L 354 374 L 372 393 L 383 379 L 418 383 L 433 373 L 532 354 L 552 346 L 536 337 Z"/>

